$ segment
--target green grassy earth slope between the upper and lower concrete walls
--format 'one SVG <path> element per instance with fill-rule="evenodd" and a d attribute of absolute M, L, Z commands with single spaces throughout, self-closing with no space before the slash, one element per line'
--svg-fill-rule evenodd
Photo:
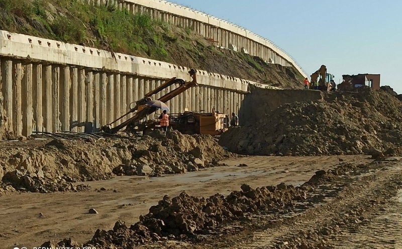
<path fill-rule="evenodd" d="M 76 0 L 1 0 L 0 29 L 194 67 L 253 81 L 302 86 L 293 68 L 220 50 L 191 29 Z"/>

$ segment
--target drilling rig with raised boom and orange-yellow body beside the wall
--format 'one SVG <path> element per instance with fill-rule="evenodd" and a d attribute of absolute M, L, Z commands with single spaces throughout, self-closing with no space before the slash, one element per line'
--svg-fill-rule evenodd
<path fill-rule="evenodd" d="M 151 130 L 157 129 L 159 125 L 158 121 L 151 119 L 141 122 L 146 116 L 151 115 L 158 109 L 157 107 L 150 106 L 147 103 L 152 100 L 153 95 L 161 92 L 171 85 L 178 83 L 179 87 L 163 95 L 158 99 L 158 101 L 166 103 L 167 101 L 173 99 L 174 97 L 185 92 L 191 87 L 197 86 L 196 71 L 194 69 L 191 69 L 188 73 L 190 74 L 191 81 L 186 82 L 182 79 L 171 78 L 160 87 L 145 94 L 142 99 L 131 103 L 130 110 L 126 114 L 116 119 L 115 121 L 101 127 L 101 130 L 109 134 L 114 134 L 126 128 L 126 131 L 140 131 L 143 134 L 147 134 Z M 131 108 L 132 104 L 135 104 L 133 108 Z M 127 119 L 116 127 L 112 127 L 113 124 L 128 116 L 130 113 L 134 113 L 133 117 Z M 170 114 L 169 116 L 169 126 L 184 134 L 219 135 L 229 128 L 228 115 L 215 112 L 214 110 L 212 113 L 185 111 L 184 113 Z"/>

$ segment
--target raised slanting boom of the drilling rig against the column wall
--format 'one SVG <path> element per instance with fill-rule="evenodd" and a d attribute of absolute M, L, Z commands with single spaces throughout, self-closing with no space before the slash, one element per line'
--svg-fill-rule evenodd
<path fill-rule="evenodd" d="M 185 92 L 187 89 L 196 86 L 197 85 L 196 71 L 194 69 L 191 69 L 188 73 L 190 74 L 191 81 L 186 82 L 183 79 L 177 79 L 176 77 L 171 78 L 170 80 L 166 81 L 164 84 L 162 84 L 155 90 L 152 90 L 149 93 L 145 94 L 144 98 L 131 103 L 130 111 L 128 111 L 126 114 L 116 119 L 115 121 L 103 126 L 101 129 L 106 133 L 113 134 L 124 128 L 126 128 L 126 130 L 129 131 L 144 131 L 152 127 L 155 127 L 156 125 L 155 122 L 152 121 L 141 122 L 145 117 L 154 113 L 158 109 L 157 107 L 148 105 L 147 102 L 152 100 L 153 95 L 161 92 L 162 90 L 176 83 L 179 84 L 179 87 L 166 93 L 158 100 L 163 103 L 166 103 L 167 101 L 173 99 L 177 95 Z M 132 104 L 135 104 L 135 106 L 131 107 Z M 115 124 L 116 122 L 118 122 L 119 120 L 123 119 L 124 117 L 128 116 L 131 113 L 134 113 L 134 115 L 131 118 L 127 119 L 126 121 L 122 122 L 121 124 L 115 127 L 112 127 L 113 124 Z"/>

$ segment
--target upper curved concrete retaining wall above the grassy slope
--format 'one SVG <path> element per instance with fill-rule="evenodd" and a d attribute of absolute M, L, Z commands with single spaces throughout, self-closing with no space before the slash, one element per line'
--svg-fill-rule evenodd
<path fill-rule="evenodd" d="M 111 4 L 133 14 L 147 14 L 183 28 L 191 28 L 220 47 L 237 51 L 245 49 L 250 55 L 258 56 L 269 63 L 293 66 L 304 77 L 307 74 L 295 60 L 271 41 L 228 21 L 161 0 L 80 0 L 95 6 Z"/>

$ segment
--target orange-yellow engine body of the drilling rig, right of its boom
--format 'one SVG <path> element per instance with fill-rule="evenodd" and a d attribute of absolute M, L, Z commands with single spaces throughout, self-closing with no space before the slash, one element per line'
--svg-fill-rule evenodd
<path fill-rule="evenodd" d="M 183 134 L 220 135 L 229 128 L 229 116 L 216 112 L 210 113 L 184 111 L 170 114 L 170 126 Z"/>

